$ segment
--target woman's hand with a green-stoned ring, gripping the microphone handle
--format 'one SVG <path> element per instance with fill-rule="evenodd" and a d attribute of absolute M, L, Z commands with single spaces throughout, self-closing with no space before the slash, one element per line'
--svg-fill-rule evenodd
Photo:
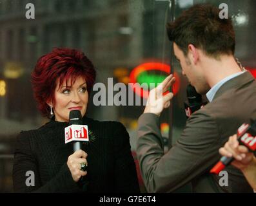
<path fill-rule="evenodd" d="M 85 176 L 87 174 L 87 171 L 81 171 L 81 163 L 85 163 L 87 165 L 86 157 L 87 154 L 81 149 L 68 156 L 68 162 L 66 164 L 68 165 L 72 178 L 75 182 L 78 182 L 81 176 Z"/>

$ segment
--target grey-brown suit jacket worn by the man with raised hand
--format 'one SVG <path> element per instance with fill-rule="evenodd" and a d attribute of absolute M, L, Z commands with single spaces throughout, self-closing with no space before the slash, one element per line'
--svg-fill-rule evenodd
<path fill-rule="evenodd" d="M 228 186 L 209 171 L 221 157 L 219 148 L 243 123 L 256 118 L 256 81 L 246 71 L 221 86 L 213 101 L 186 122 L 177 143 L 164 154 L 159 117 L 139 118 L 137 157 L 148 192 L 172 192 L 192 182 L 193 192 L 252 192 L 242 173 L 228 166 Z M 256 171 L 255 171 L 256 173 Z"/>

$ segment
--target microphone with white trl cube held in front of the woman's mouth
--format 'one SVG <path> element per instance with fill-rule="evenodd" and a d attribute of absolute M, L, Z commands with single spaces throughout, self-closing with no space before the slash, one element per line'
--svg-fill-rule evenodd
<path fill-rule="evenodd" d="M 82 115 L 80 110 L 70 111 L 68 127 L 65 127 L 65 144 L 74 142 L 74 152 L 81 149 L 81 142 L 88 142 L 88 126 L 83 125 Z"/>

